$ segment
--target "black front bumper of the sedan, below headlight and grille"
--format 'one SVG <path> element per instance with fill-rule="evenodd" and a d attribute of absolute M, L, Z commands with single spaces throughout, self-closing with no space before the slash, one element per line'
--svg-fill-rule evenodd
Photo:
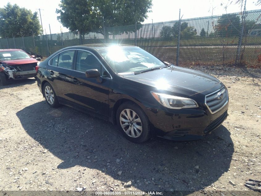
<path fill-rule="evenodd" d="M 156 135 L 172 140 L 197 140 L 210 134 L 227 117 L 228 103 L 215 114 L 202 105 L 201 108 L 179 110 L 160 105 L 145 112 Z"/>

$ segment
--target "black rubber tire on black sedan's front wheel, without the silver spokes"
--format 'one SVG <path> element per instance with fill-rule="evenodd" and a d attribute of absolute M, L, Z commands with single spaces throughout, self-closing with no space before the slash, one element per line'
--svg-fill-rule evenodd
<path fill-rule="evenodd" d="M 127 130 L 126 132 L 128 132 L 128 133 L 125 132 L 124 128 L 128 129 L 129 126 L 131 126 L 131 125 L 126 125 L 126 127 L 124 127 L 124 128 L 121 127 L 121 123 L 124 123 L 124 121 L 120 120 L 120 117 L 124 117 L 124 115 L 121 115 L 121 114 L 122 114 L 122 112 L 124 112 L 128 109 L 131 110 L 132 116 L 133 116 L 132 111 L 134 111 L 137 114 L 137 115 L 135 115 L 136 118 L 139 118 L 141 121 L 141 124 L 139 124 L 139 125 L 141 125 L 140 127 L 142 127 L 142 131 L 139 136 L 134 134 L 135 137 L 132 137 L 132 136 L 128 135 L 128 134 L 132 134 L 131 131 Z M 142 143 L 142 142 L 147 141 L 151 137 L 148 117 L 146 116 L 145 112 L 137 104 L 135 104 L 133 102 L 124 102 L 123 104 L 120 105 L 120 107 L 118 108 L 118 110 L 116 112 L 116 120 L 117 120 L 117 127 L 120 130 L 120 132 L 124 135 L 124 137 L 126 139 L 128 139 L 131 142 Z M 124 118 L 124 120 L 127 120 L 127 119 Z M 133 121 L 133 120 L 131 120 L 131 121 Z M 130 122 L 127 122 L 127 123 L 130 124 Z M 133 122 L 132 126 L 134 129 L 134 127 L 135 127 L 134 122 Z M 135 128 L 135 130 L 137 130 L 137 128 Z M 135 131 L 135 130 L 134 130 L 134 132 L 137 133 L 137 131 Z"/>

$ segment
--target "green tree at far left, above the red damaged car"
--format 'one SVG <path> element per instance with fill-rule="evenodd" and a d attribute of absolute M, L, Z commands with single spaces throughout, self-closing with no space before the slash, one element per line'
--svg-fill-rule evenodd
<path fill-rule="evenodd" d="M 31 36 L 32 32 L 35 35 L 41 33 L 37 12 L 32 13 L 31 10 L 11 3 L 0 8 L 0 37 Z"/>

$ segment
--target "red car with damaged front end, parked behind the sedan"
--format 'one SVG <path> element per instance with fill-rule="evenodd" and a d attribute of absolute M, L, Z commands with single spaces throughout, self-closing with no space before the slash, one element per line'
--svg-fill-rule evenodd
<path fill-rule="evenodd" d="M 23 50 L 0 50 L 0 84 L 6 85 L 8 80 L 35 77 L 38 63 Z"/>

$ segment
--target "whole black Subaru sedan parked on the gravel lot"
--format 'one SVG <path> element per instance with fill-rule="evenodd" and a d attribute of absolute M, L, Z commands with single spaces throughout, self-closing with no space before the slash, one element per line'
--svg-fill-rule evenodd
<path fill-rule="evenodd" d="M 227 117 L 228 91 L 221 81 L 136 46 L 67 47 L 36 69 L 49 106 L 63 104 L 108 120 L 132 142 L 152 135 L 201 139 Z"/>

